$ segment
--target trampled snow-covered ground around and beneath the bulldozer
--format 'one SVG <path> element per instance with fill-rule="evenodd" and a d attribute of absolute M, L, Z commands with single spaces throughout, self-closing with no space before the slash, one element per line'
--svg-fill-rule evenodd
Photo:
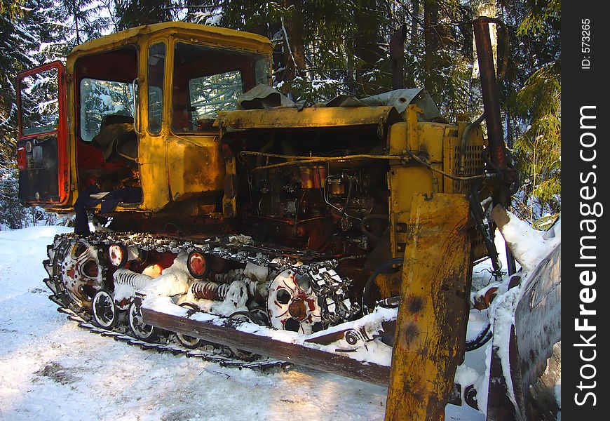
<path fill-rule="evenodd" d="M 143 351 L 67 321 L 42 279 L 65 227 L 0 232 L 0 420 L 383 420 L 387 389 L 293 367 L 260 373 Z M 477 267 L 479 281 L 489 277 Z M 485 312 L 470 316 L 472 334 Z M 463 377 L 485 370 L 466 354 Z M 484 420 L 448 405 L 447 420 Z"/>

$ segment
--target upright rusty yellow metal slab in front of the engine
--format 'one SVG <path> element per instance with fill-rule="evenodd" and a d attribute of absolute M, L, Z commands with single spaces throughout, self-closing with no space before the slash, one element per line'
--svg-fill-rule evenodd
<path fill-rule="evenodd" d="M 470 243 L 461 194 L 414 194 L 386 421 L 442 420 L 463 358 Z"/>

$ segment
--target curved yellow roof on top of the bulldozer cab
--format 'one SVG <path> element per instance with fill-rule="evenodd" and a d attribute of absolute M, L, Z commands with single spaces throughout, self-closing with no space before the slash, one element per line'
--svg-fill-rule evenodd
<path fill-rule="evenodd" d="M 198 25 L 196 23 L 162 22 L 154 23 L 152 25 L 142 25 L 114 34 L 100 36 L 100 38 L 92 39 L 91 41 L 74 47 L 70 55 L 104 49 L 104 47 L 107 46 L 128 44 L 130 41 L 135 42 L 141 36 L 154 36 L 156 34 L 161 36 L 167 34 L 177 34 L 186 37 L 191 36 L 199 41 L 210 41 L 214 44 L 221 44 L 222 46 L 235 46 L 237 48 L 257 51 L 259 53 L 271 53 L 271 51 L 273 51 L 273 44 L 271 44 L 271 41 L 269 41 L 266 36 L 236 31 L 235 29 Z"/>

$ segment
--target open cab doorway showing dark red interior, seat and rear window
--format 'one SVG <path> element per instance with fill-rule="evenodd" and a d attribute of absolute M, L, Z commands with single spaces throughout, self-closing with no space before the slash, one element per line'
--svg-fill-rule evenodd
<path fill-rule="evenodd" d="M 137 48 L 123 46 L 85 55 L 74 65 L 76 168 L 79 190 L 140 189 L 133 88 Z"/>

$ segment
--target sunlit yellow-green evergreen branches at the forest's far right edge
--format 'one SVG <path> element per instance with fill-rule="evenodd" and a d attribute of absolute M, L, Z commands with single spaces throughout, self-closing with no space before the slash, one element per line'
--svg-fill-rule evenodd
<path fill-rule="evenodd" d="M 527 46 L 515 53 L 524 58 L 520 69 L 527 80 L 515 83 L 520 89 L 507 108 L 527 126 L 514 144 L 521 181 L 515 208 L 542 227 L 561 211 L 560 2 L 513 4 L 512 13 L 522 15 L 515 37 Z"/>

